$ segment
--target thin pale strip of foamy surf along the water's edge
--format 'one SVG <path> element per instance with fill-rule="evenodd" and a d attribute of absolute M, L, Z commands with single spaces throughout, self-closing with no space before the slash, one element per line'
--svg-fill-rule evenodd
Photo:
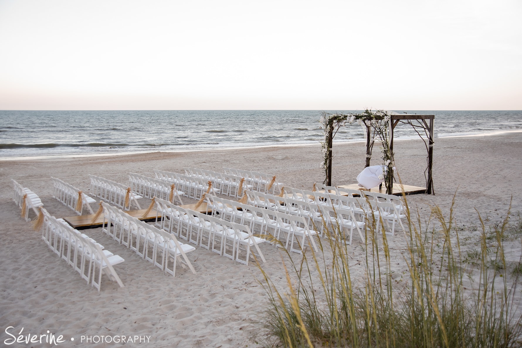
<path fill-rule="evenodd" d="M 488 136 L 500 136 L 508 135 L 513 133 L 522 133 L 522 129 L 517 130 L 495 130 L 487 133 L 473 133 L 473 134 L 458 134 L 458 135 L 445 135 L 437 136 L 436 139 L 451 139 L 451 138 L 473 138 L 473 137 L 488 137 Z M 408 140 L 419 140 L 419 137 L 412 138 L 397 138 L 397 141 L 408 141 Z M 366 140 L 353 140 L 353 141 L 334 141 L 336 145 L 347 145 L 351 143 L 363 143 Z M 59 160 L 59 159 L 72 159 L 72 158 L 93 158 L 93 157 L 115 157 L 124 155 L 136 155 L 146 153 L 192 153 L 192 152 L 215 152 L 215 151 L 229 151 L 229 150 L 249 150 L 249 149 L 264 149 L 264 148 L 288 148 L 288 147 L 314 147 L 320 146 L 319 143 L 295 143 L 295 144 L 272 144 L 272 145 L 258 145 L 258 146 L 233 146 L 233 147 L 221 147 L 221 148 L 200 148 L 200 149 L 173 149 L 173 150 L 144 150 L 144 151 L 121 151 L 121 152 L 86 152 L 86 153 L 64 153 L 64 154 L 42 154 L 42 155 L 27 155 L 27 156 L 6 156 L 0 157 L 2 161 L 34 161 L 34 160 Z"/>

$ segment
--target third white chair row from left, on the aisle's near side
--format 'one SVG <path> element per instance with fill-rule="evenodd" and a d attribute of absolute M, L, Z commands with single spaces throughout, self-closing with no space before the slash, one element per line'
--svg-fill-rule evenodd
<path fill-rule="evenodd" d="M 209 196 L 212 197 L 209 194 L 205 195 L 207 200 Z M 254 236 L 248 226 L 183 209 L 163 199 L 155 201 L 157 215 L 161 215 L 162 218 L 157 220 L 157 224 L 172 233 L 177 233 L 179 237 L 245 265 L 248 265 L 253 247 L 257 256 L 266 262 L 258 246 L 265 242 L 265 239 Z M 242 250 L 245 251 L 245 259 L 240 256 Z"/>

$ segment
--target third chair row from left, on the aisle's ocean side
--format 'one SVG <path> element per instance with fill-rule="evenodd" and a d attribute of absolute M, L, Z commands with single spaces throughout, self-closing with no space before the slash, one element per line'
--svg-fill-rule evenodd
<path fill-rule="evenodd" d="M 91 180 L 90 193 L 94 197 L 101 198 L 125 210 L 130 210 L 132 205 L 141 209 L 137 201 L 141 196 L 134 193 L 131 187 L 96 175 L 89 174 L 89 178 Z M 127 202 L 125 202 L 126 200 Z"/>

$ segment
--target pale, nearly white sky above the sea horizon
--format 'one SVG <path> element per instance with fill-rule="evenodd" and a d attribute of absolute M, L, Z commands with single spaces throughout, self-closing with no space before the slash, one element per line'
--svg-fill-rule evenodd
<path fill-rule="evenodd" d="M 520 18 L 520 0 L 0 0 L 0 110 L 522 110 Z"/>

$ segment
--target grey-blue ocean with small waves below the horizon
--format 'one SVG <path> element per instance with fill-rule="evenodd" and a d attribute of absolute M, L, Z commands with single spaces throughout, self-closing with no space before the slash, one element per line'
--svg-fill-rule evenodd
<path fill-rule="evenodd" d="M 522 111 L 394 111 L 435 115 L 439 138 L 522 131 Z M 320 117 L 318 110 L 0 111 L 0 157 L 317 144 Z M 418 137 L 407 125 L 394 136 Z M 335 137 L 361 140 L 357 124 Z"/>

